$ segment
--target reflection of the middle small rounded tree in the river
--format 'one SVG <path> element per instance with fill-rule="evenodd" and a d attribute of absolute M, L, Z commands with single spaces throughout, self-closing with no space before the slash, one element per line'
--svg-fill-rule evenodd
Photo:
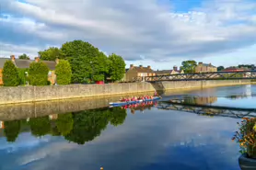
<path fill-rule="evenodd" d="M 51 132 L 51 122 L 48 116 L 29 119 L 31 133 L 34 136 L 44 136 Z"/>

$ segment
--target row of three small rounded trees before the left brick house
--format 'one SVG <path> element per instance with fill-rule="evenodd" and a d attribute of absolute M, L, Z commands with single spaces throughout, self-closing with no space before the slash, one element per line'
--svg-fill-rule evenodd
<path fill-rule="evenodd" d="M 12 61 L 6 61 L 3 68 L 3 83 L 5 86 L 50 85 L 48 80 L 49 68 L 44 62 L 31 62 L 29 68 L 20 69 Z M 56 81 L 59 85 L 71 83 L 71 66 L 68 61 L 60 60 L 55 69 Z"/>

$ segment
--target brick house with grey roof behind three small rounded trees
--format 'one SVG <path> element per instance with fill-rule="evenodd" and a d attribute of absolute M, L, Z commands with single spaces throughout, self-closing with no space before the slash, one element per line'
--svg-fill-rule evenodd
<path fill-rule="evenodd" d="M 1 58 L 0 59 L 0 85 L 3 85 L 2 70 L 3 70 L 5 62 L 7 60 L 11 60 L 17 66 L 17 68 L 20 68 L 20 69 L 29 68 L 29 65 L 31 62 L 40 62 L 39 57 L 36 57 L 35 60 L 16 59 L 14 55 L 11 55 L 10 59 Z M 48 74 L 48 81 L 50 81 L 51 84 L 54 85 L 56 82 L 56 74 L 54 73 L 55 66 L 59 62 L 59 59 L 57 59 L 55 62 L 53 62 L 53 61 L 41 61 L 41 62 L 46 63 L 46 65 L 48 66 L 48 68 L 50 70 L 50 72 Z"/>

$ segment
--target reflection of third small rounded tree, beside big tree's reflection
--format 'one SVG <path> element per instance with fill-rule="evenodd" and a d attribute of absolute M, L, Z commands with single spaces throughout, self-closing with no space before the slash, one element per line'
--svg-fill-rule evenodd
<path fill-rule="evenodd" d="M 60 114 L 56 121 L 58 131 L 63 135 L 68 135 L 73 129 L 74 120 L 72 113 Z"/>

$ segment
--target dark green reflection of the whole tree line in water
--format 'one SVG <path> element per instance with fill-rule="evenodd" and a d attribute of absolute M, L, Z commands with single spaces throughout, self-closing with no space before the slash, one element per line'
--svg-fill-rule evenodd
<path fill-rule="evenodd" d="M 69 142 L 84 144 L 90 142 L 105 130 L 111 123 L 113 126 L 122 125 L 127 116 L 122 108 L 94 109 L 58 115 L 58 119 L 49 119 L 48 116 L 31 118 L 29 122 L 13 120 L 5 122 L 5 136 L 7 142 L 15 142 L 20 132 L 30 130 L 35 137 L 47 134 L 64 136 Z"/>

